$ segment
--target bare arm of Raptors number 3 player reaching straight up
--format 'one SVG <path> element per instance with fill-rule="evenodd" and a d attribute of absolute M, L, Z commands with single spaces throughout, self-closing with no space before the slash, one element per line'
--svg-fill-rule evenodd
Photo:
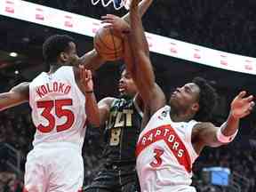
<path fill-rule="evenodd" d="M 156 110 L 164 107 L 165 97 L 164 92 L 156 84 L 153 67 L 148 55 L 148 44 L 136 2 L 138 3 L 137 0 L 133 0 L 130 8 L 131 32 L 126 35 L 124 63 L 138 87 L 140 97 L 145 104 L 145 114 L 149 114 L 150 117 Z"/>

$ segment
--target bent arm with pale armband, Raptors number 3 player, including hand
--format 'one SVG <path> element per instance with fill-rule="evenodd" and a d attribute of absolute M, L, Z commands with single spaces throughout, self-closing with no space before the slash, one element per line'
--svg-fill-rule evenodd
<path fill-rule="evenodd" d="M 232 101 L 228 119 L 220 127 L 215 127 L 211 123 L 196 125 L 195 130 L 198 132 L 198 139 L 205 146 L 219 147 L 235 139 L 240 119 L 248 116 L 255 105 L 252 101 L 253 96 L 245 97 L 245 94 L 246 92 L 240 92 Z"/>

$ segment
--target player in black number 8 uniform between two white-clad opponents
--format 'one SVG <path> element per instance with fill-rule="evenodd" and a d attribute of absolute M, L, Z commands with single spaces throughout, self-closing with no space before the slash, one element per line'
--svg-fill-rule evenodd
<path fill-rule="evenodd" d="M 140 4 L 140 15 L 148 9 L 152 0 L 144 0 Z M 141 9 L 144 9 L 141 12 Z M 124 20 L 107 15 L 102 17 L 112 21 L 112 27 L 118 28 Z M 127 17 L 129 22 L 129 17 Z M 107 22 L 108 23 L 108 22 Z M 108 23 L 109 24 L 109 23 Z M 125 57 L 131 57 L 129 52 Z M 128 61 L 131 61 L 128 60 Z M 120 98 L 104 98 L 98 103 L 100 124 L 107 121 L 105 128 L 106 147 L 104 148 L 104 164 L 92 184 L 84 188 L 85 192 L 128 192 L 140 191 L 136 182 L 135 147 L 140 134 L 140 123 L 143 108 L 142 100 L 132 77 L 124 69 L 119 80 Z"/>

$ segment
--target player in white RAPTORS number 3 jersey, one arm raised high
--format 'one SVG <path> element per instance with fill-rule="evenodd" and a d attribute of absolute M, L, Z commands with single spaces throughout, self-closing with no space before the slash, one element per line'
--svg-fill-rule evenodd
<path fill-rule="evenodd" d="M 252 95 L 240 92 L 231 102 L 227 121 L 220 127 L 207 122 L 216 92 L 203 78 L 178 87 L 168 105 L 155 82 L 145 50 L 138 0 L 130 8 L 131 31 L 127 35 L 134 64 L 127 66 L 145 104 L 140 138 L 137 142 L 137 172 L 143 192 L 194 192 L 190 187 L 192 165 L 206 146 L 216 148 L 234 140 L 239 120 L 254 106 Z M 129 46 L 126 46 L 129 49 Z"/>

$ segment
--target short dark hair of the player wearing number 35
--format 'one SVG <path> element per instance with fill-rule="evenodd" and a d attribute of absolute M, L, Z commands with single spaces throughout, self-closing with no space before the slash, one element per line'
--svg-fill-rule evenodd
<path fill-rule="evenodd" d="M 54 35 L 48 37 L 43 44 L 44 61 L 47 64 L 57 62 L 60 52 L 67 51 L 70 42 L 74 42 L 74 38 L 67 35 Z"/>

